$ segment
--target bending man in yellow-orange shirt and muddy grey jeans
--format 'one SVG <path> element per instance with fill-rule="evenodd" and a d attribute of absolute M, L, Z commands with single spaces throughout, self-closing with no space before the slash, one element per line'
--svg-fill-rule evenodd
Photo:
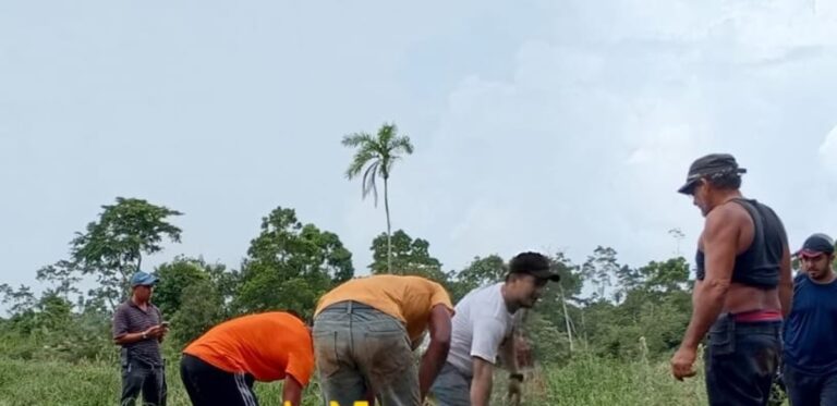
<path fill-rule="evenodd" d="M 448 356 L 452 315 L 445 288 L 420 276 L 354 279 L 323 296 L 314 349 L 326 404 L 421 405 Z M 416 371 L 412 350 L 428 328 Z"/>

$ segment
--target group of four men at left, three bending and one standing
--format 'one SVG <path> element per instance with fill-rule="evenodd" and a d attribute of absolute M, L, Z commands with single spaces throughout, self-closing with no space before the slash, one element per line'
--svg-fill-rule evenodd
<path fill-rule="evenodd" d="M 253 383 L 276 380 L 284 380 L 282 402 L 300 405 L 316 368 L 327 405 L 415 406 L 433 393 L 439 405 L 483 406 L 501 362 L 509 395 L 519 398 L 514 315 L 558 280 L 549 258 L 529 251 L 509 261 L 505 281 L 470 292 L 456 307 L 440 284 L 421 276 L 353 279 L 319 299 L 312 328 L 283 311 L 214 327 L 183 349 L 181 378 L 194 405 L 257 405 Z M 159 344 L 168 327 L 148 302 L 155 276 L 138 272 L 132 281 L 133 295 L 113 318 L 123 346 L 122 404 L 142 392 L 145 404 L 160 405 Z M 429 344 L 416 361 L 425 335 Z"/>

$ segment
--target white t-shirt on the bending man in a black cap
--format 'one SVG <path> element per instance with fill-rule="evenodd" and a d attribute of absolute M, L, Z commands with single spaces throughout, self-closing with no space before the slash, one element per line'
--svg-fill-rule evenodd
<path fill-rule="evenodd" d="M 496 364 L 502 342 L 511 336 L 513 315 L 502 299 L 502 282 L 471 291 L 457 304 L 448 362 L 468 377 L 480 357 Z"/>

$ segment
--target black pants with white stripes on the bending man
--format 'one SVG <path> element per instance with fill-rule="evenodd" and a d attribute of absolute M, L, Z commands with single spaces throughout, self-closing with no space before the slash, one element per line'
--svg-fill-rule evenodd
<path fill-rule="evenodd" d="M 253 376 L 218 369 L 198 357 L 183 354 L 180 378 L 195 406 L 258 406 Z"/>

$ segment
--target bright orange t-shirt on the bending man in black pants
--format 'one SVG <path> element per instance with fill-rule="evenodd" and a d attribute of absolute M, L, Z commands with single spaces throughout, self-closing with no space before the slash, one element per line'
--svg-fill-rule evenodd
<path fill-rule="evenodd" d="M 302 320 L 271 311 L 225 321 L 193 341 L 183 353 L 231 373 L 263 382 L 292 376 L 303 386 L 314 371 L 314 345 Z"/>

